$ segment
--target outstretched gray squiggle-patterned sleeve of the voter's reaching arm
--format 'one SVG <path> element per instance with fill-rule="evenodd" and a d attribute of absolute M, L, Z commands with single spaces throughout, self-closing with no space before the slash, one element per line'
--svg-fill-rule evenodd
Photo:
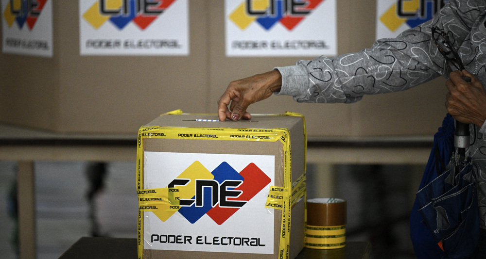
<path fill-rule="evenodd" d="M 452 33 L 458 47 L 484 6 L 484 0 L 450 0 L 434 19 L 397 38 L 378 40 L 369 49 L 276 67 L 282 74 L 282 88 L 276 94 L 293 96 L 298 102 L 352 103 L 364 95 L 403 91 L 440 75 L 448 77 L 430 27 Z"/>

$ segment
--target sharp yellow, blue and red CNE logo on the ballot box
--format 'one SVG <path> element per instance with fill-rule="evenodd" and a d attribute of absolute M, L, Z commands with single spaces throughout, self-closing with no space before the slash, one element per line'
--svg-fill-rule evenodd
<path fill-rule="evenodd" d="M 238 173 L 227 162 L 209 172 L 195 161 L 168 185 L 179 190 L 179 208 L 173 208 L 178 210 L 154 213 L 166 221 L 178 212 L 191 224 L 206 214 L 221 225 L 270 182 L 254 163 Z"/>

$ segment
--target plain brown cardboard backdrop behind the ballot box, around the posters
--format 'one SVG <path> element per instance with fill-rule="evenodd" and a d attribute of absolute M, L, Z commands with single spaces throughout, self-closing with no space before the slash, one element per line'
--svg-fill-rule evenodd
<path fill-rule="evenodd" d="M 338 54 L 370 47 L 376 2 L 336 4 Z M 0 53 L 2 123 L 56 132 L 135 134 L 164 111 L 216 113 L 217 100 L 230 81 L 314 58 L 226 57 L 221 0 L 190 1 L 187 57 L 80 56 L 77 1 L 53 1 L 52 7 L 52 58 Z M 272 96 L 250 106 L 249 112 L 302 113 L 314 138 L 433 135 L 446 113 L 443 82 L 364 97 L 350 105 L 304 104 Z"/>

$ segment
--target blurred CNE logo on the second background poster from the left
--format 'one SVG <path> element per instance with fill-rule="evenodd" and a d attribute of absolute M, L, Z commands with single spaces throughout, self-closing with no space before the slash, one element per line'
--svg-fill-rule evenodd
<path fill-rule="evenodd" d="M 97 0 L 83 18 L 99 29 L 109 21 L 119 30 L 133 22 L 142 31 L 161 15 L 175 0 Z"/>

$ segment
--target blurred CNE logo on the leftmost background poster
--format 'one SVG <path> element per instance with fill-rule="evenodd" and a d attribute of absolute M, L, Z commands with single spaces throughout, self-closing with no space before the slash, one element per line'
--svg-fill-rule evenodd
<path fill-rule="evenodd" d="M 47 0 L 9 0 L 3 12 L 8 27 L 17 23 L 21 30 L 27 24 L 32 31 L 46 2 Z"/>

